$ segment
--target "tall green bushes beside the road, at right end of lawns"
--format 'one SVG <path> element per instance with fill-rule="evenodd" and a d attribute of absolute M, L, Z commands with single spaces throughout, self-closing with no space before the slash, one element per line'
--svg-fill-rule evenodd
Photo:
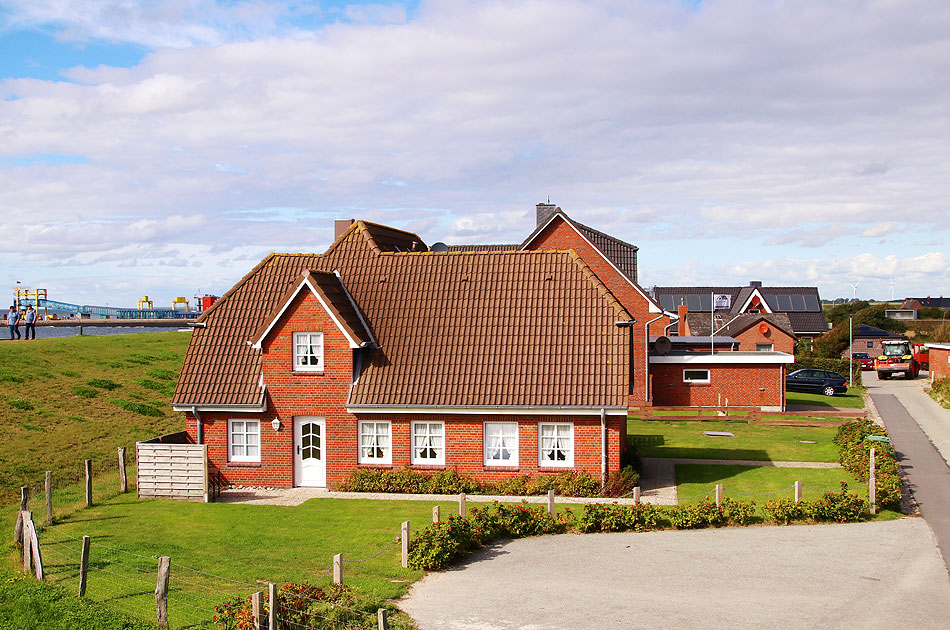
<path fill-rule="evenodd" d="M 887 430 L 867 419 L 854 420 L 838 428 L 834 443 L 838 445 L 838 460 L 845 470 L 867 482 L 870 476 L 871 449 L 877 479 L 877 504 L 898 510 L 901 504 L 901 477 L 894 457 L 894 447 L 886 442 L 867 440 L 869 435 L 887 437 Z"/>

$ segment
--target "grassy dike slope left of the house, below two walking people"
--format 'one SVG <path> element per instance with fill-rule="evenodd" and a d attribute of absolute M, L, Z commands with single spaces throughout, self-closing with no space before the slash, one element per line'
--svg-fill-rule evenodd
<path fill-rule="evenodd" d="M 0 501 L 78 480 L 84 459 L 182 429 L 168 401 L 190 335 L 135 333 L 0 343 Z"/>

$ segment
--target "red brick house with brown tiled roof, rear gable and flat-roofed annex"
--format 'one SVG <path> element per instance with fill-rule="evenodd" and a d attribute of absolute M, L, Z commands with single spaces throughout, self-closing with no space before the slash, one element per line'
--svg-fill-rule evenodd
<path fill-rule="evenodd" d="M 173 407 L 227 483 L 274 487 L 359 467 L 603 478 L 653 392 L 781 407 L 790 355 L 651 352 L 675 315 L 578 225 L 555 209 L 518 249 L 433 251 L 338 222 L 325 253 L 271 254 L 202 314 Z"/>

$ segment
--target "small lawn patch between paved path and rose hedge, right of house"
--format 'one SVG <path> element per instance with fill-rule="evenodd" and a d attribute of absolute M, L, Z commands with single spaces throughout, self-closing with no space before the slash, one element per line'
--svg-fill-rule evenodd
<path fill-rule="evenodd" d="M 715 500 L 717 483 L 723 485 L 727 497 L 737 501 L 755 501 L 761 506 L 770 499 L 792 499 L 796 481 L 804 484 L 802 498 L 807 501 L 820 499 L 825 492 L 837 492 L 842 481 L 848 484 L 849 492 L 867 496 L 866 484 L 843 468 L 772 468 L 756 466 L 718 466 L 678 464 L 676 466 L 676 490 L 683 499 L 680 503 L 695 503 L 709 496 Z M 816 489 L 817 488 L 817 489 Z M 777 493 L 777 494 L 772 494 Z M 696 496 L 701 495 L 701 496 Z M 756 496 L 749 496 L 756 495 Z M 768 495 L 768 496 L 762 496 Z M 879 519 L 900 518 L 898 512 L 883 510 Z"/>

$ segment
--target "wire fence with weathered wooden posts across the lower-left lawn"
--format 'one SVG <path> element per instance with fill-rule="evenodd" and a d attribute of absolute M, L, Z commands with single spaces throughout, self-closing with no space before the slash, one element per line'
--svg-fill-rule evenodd
<path fill-rule="evenodd" d="M 46 580 L 74 593 L 79 593 L 82 576 L 82 537 L 60 527 L 37 527 L 37 540 L 43 555 Z M 399 542 L 396 537 L 377 552 L 364 558 L 345 560 L 342 564 L 357 565 L 379 558 Z M 131 552 L 94 540 L 90 541 L 86 571 L 85 597 L 118 612 L 156 620 L 156 591 L 159 583 L 159 557 Z M 270 609 L 268 582 L 247 582 L 215 575 L 179 563 L 169 563 L 167 619 L 170 628 L 230 627 L 225 617 L 232 611 L 247 609 L 252 595 L 262 593 L 263 611 Z M 346 591 L 337 594 L 345 601 L 327 600 L 331 564 L 315 580 L 308 581 L 311 594 L 292 591 L 285 599 L 292 602 L 289 610 L 278 595 L 275 612 L 280 628 L 377 628 L 378 611 L 359 608 Z M 244 613 L 249 614 L 247 612 Z M 409 628 L 401 617 L 387 618 L 389 628 Z"/>

